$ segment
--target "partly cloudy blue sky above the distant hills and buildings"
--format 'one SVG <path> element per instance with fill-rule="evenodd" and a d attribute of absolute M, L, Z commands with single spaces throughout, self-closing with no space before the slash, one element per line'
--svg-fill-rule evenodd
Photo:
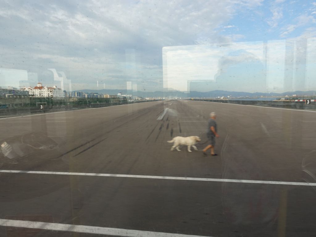
<path fill-rule="evenodd" d="M 304 0 L 0 0 L 0 87 L 316 90 L 315 23 Z"/>

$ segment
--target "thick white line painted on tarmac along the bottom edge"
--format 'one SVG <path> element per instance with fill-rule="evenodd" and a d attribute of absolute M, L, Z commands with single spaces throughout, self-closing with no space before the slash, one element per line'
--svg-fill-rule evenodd
<path fill-rule="evenodd" d="M 44 229 L 44 230 L 55 230 L 55 231 L 70 231 L 78 233 L 89 233 L 89 234 L 104 234 L 114 236 L 126 236 L 126 237 L 206 237 L 201 235 L 188 235 L 188 234 L 173 234 L 164 232 L 152 232 L 144 230 L 129 230 L 119 228 L 108 228 L 99 226 L 83 226 L 83 225 L 70 225 L 60 223 L 49 223 L 49 222 L 31 222 L 31 221 L 19 221 L 19 220 L 8 220 L 0 219 L 0 226 L 10 226 L 19 228 L 32 228 L 32 229 Z"/>

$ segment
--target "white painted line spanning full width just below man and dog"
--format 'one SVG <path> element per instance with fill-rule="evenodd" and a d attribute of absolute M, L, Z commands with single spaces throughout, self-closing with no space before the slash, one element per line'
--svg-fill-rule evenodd
<path fill-rule="evenodd" d="M 141 179 L 173 179 L 173 180 L 227 182 L 227 183 L 316 186 L 316 183 L 301 183 L 301 182 L 264 181 L 264 180 L 248 180 L 248 179 L 190 178 L 190 177 L 151 176 L 151 175 L 134 175 L 134 174 L 76 173 L 76 172 L 25 171 L 25 170 L 0 170 L 0 173 L 61 174 L 61 175 L 81 175 L 81 176 L 99 176 L 99 177 L 104 176 L 104 177 L 141 178 Z"/>

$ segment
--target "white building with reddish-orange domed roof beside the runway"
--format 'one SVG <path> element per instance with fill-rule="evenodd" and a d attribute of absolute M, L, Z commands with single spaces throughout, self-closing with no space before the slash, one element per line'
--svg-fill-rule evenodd
<path fill-rule="evenodd" d="M 30 96 L 43 97 L 43 98 L 64 98 L 64 91 L 56 86 L 47 87 L 42 86 L 42 83 L 37 83 L 36 87 L 24 87 L 21 90 L 28 91 Z"/>

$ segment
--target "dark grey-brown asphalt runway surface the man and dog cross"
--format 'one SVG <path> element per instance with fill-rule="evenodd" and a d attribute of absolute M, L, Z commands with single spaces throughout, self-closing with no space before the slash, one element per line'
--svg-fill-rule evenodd
<path fill-rule="evenodd" d="M 19 154 L 0 160 L 0 236 L 315 236 L 315 118 L 163 100 L 0 119 Z"/>

